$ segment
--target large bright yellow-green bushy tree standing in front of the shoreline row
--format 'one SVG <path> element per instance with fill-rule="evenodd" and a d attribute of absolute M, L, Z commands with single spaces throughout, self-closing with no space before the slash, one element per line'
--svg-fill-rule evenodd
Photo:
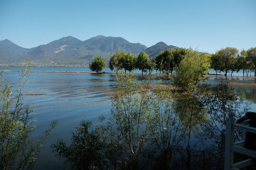
<path fill-rule="evenodd" d="M 204 80 L 204 74 L 209 72 L 209 68 L 210 55 L 190 50 L 175 68 L 177 76 L 174 78 L 174 83 L 183 90 L 193 88 Z"/>

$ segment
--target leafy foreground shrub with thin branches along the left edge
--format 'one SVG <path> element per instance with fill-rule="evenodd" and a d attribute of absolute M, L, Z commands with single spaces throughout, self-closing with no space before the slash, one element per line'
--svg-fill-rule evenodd
<path fill-rule="evenodd" d="M 32 110 L 21 102 L 28 75 L 29 70 L 26 68 L 21 75 L 19 89 L 13 93 L 11 85 L 4 84 L 0 73 L 0 170 L 32 169 L 43 142 L 57 123 L 56 120 L 52 121 L 39 140 L 30 140 L 36 119 L 29 117 Z"/>

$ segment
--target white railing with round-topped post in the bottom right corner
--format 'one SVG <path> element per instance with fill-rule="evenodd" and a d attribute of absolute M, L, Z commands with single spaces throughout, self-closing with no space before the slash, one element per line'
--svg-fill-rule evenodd
<path fill-rule="evenodd" d="M 256 151 L 252 151 L 245 148 L 245 141 L 239 141 L 234 143 L 235 128 L 245 130 L 247 132 L 256 133 L 256 128 L 248 127 L 235 123 L 234 113 L 229 112 L 226 124 L 226 141 L 225 141 L 225 162 L 224 170 L 239 170 L 240 168 L 247 167 L 254 164 L 252 159 L 239 161 L 234 163 L 234 152 L 241 153 L 250 157 L 256 158 Z"/>

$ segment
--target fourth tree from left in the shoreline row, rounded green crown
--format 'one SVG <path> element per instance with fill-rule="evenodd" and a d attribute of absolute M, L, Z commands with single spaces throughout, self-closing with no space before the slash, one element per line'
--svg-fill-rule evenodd
<path fill-rule="evenodd" d="M 141 74 L 143 75 L 143 72 L 146 72 L 148 69 L 149 63 L 149 56 L 146 54 L 146 52 L 141 51 L 137 57 L 136 67 L 141 70 Z"/>

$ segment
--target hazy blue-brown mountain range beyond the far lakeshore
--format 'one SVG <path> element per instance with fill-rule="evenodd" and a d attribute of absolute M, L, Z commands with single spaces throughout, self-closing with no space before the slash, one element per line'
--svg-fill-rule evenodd
<path fill-rule="evenodd" d="M 96 36 L 81 41 L 72 36 L 39 45 L 34 48 L 23 48 L 5 39 L 0 41 L 0 65 L 20 65 L 29 58 L 36 66 L 88 66 L 94 57 L 102 56 L 109 61 L 117 50 L 139 54 L 145 51 L 149 57 L 155 57 L 160 51 L 178 47 L 165 42 L 158 42 L 151 47 L 140 43 L 131 43 L 121 37 Z"/>

